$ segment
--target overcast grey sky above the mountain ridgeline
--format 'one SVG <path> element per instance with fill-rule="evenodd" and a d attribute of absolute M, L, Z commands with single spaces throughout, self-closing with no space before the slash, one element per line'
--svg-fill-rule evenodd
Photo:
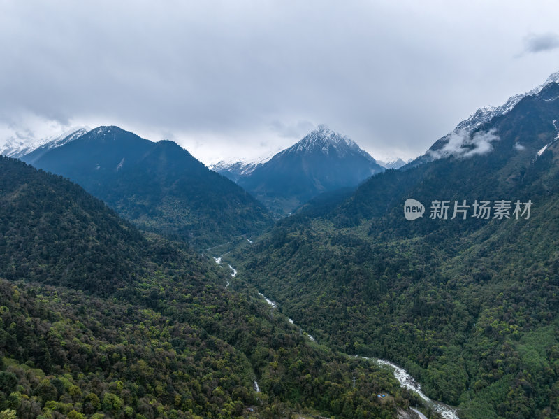
<path fill-rule="evenodd" d="M 0 144 L 74 125 L 206 164 L 324 123 L 415 157 L 559 71 L 559 2 L 0 0 Z"/>

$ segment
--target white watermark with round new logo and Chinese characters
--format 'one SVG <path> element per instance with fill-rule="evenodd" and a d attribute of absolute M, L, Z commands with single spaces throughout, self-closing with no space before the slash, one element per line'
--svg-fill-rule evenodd
<path fill-rule="evenodd" d="M 521 202 L 516 200 L 500 199 L 497 201 L 474 200 L 470 204 L 463 201 L 435 201 L 431 202 L 429 218 L 431 220 L 454 220 L 456 218 L 466 220 L 476 218 L 477 220 L 528 220 L 532 201 Z M 425 207 L 415 199 L 406 199 L 404 204 L 404 216 L 406 220 L 413 221 L 423 217 Z"/>

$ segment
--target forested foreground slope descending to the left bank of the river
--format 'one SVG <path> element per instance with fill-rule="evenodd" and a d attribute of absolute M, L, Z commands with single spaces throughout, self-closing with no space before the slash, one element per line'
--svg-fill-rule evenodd
<path fill-rule="evenodd" d="M 0 199 L 2 417 L 395 418 L 413 400 L 68 180 L 0 157 Z"/>

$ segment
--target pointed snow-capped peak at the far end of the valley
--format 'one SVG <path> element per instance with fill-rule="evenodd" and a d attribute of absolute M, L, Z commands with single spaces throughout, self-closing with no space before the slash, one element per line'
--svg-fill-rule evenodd
<path fill-rule="evenodd" d="M 319 125 L 246 175 L 235 176 L 270 211 L 284 216 L 321 193 L 356 187 L 381 171 L 384 168 L 354 141 Z"/>

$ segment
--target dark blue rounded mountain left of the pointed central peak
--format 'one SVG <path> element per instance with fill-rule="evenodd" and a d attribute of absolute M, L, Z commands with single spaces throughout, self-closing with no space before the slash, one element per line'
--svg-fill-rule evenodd
<path fill-rule="evenodd" d="M 153 143 L 118 127 L 98 127 L 26 162 L 79 183 L 143 229 L 198 248 L 257 232 L 271 218 L 230 180 L 172 141 Z"/>

